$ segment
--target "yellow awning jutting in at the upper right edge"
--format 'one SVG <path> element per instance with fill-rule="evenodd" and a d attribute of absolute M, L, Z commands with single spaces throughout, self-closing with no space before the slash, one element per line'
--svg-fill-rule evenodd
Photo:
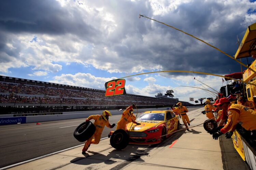
<path fill-rule="evenodd" d="M 256 23 L 247 28 L 235 58 L 250 57 L 253 54 L 256 54 Z"/>

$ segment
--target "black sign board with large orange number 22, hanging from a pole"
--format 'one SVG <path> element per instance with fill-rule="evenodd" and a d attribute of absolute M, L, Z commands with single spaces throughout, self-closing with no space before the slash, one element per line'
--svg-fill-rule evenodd
<path fill-rule="evenodd" d="M 105 83 L 105 96 L 125 95 L 125 79 L 111 80 Z"/>

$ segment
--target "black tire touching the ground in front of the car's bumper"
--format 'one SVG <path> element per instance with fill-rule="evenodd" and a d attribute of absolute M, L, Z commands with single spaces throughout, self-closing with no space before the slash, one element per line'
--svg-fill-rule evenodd
<path fill-rule="evenodd" d="M 129 143 L 129 135 L 123 129 L 118 129 L 110 137 L 110 145 L 116 150 L 122 150 L 127 147 Z"/>

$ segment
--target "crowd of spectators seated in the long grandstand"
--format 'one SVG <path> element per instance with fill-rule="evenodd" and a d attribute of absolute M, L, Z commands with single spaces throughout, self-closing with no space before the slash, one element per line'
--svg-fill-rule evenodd
<path fill-rule="evenodd" d="M 137 105 L 171 105 L 177 101 L 131 95 L 105 97 L 104 92 L 0 82 L 0 103 L 129 105 L 131 102 Z"/>

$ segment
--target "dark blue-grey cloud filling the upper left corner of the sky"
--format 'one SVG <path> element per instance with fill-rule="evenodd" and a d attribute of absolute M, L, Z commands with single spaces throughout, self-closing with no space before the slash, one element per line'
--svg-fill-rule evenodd
<path fill-rule="evenodd" d="M 0 1 L 0 29 L 13 33 L 72 33 L 87 40 L 96 35 L 95 28 L 84 23 L 77 11 L 70 12 L 53 0 Z"/>

